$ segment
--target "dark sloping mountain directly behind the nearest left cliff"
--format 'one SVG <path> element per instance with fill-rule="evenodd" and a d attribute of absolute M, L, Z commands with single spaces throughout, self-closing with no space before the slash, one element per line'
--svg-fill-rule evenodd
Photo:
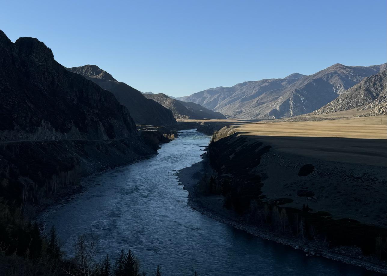
<path fill-rule="evenodd" d="M 67 68 L 68 71 L 84 76 L 97 83 L 116 96 L 116 99 L 126 106 L 136 124 L 153 126 L 172 126 L 176 124 L 171 111 L 157 102 L 150 101 L 137 89 L 126 83 L 118 82 L 108 72 L 96 65 L 84 65 Z"/>

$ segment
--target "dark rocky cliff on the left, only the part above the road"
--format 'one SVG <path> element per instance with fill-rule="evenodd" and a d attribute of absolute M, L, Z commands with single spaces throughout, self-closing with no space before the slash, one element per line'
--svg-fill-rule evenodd
<path fill-rule="evenodd" d="M 135 136 L 127 108 L 110 92 L 54 60 L 44 43 L 12 43 L 0 31 L 0 137 L 4 140 Z"/>

